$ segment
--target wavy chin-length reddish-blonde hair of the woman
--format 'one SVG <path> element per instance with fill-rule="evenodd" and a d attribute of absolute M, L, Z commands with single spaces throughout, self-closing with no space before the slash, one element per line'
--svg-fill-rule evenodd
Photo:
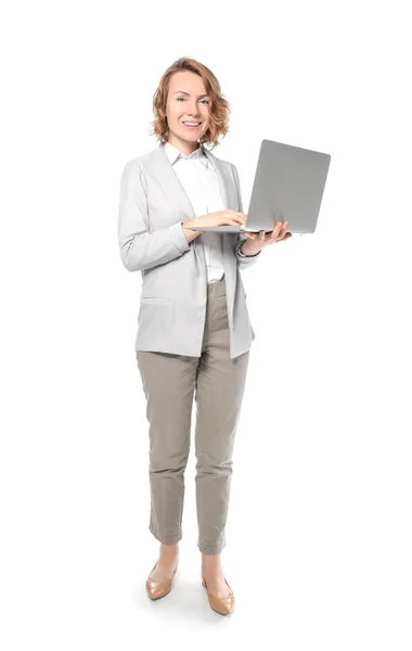
<path fill-rule="evenodd" d="M 219 144 L 219 136 L 224 138 L 229 131 L 229 117 L 231 113 L 230 104 L 222 95 L 220 84 L 213 72 L 203 63 L 186 56 L 182 56 L 175 61 L 160 78 L 157 90 L 153 95 L 153 114 L 155 119 L 151 123 L 153 124 L 151 136 L 156 136 L 156 139 L 160 142 L 167 142 L 168 140 L 169 128 L 166 117 L 166 102 L 169 92 L 170 78 L 175 73 L 180 73 L 182 71 L 190 71 L 191 73 L 199 75 L 205 85 L 206 92 L 210 97 L 209 125 L 198 142 L 199 144 L 211 143 L 214 149 Z"/>

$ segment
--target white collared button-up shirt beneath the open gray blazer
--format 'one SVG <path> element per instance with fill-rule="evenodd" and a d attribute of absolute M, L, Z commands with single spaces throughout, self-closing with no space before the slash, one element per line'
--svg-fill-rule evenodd
<path fill-rule="evenodd" d="M 202 146 L 186 156 L 170 142 L 166 142 L 165 151 L 190 199 L 194 216 L 224 210 L 219 180 Z M 197 238 L 201 238 L 205 252 L 207 282 L 221 280 L 224 273 L 223 234 L 202 232 Z"/>

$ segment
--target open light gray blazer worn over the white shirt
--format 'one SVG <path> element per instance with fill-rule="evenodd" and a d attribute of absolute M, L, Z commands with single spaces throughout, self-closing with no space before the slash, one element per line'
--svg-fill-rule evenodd
<path fill-rule="evenodd" d="M 243 213 L 237 169 L 204 151 L 217 174 L 224 207 Z M 190 243 L 182 222 L 194 219 L 192 204 L 165 146 L 131 158 L 120 180 L 118 243 L 128 271 L 141 271 L 142 291 L 136 350 L 201 357 L 207 272 L 202 241 Z M 248 350 L 255 332 L 240 270 L 260 257 L 241 257 L 243 233 L 222 233 L 230 357 Z"/>

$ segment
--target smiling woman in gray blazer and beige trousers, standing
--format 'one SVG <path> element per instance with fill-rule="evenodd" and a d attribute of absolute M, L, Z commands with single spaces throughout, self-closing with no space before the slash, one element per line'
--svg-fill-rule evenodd
<path fill-rule="evenodd" d="M 204 146 L 218 144 L 229 130 L 229 104 L 205 65 L 176 61 L 160 79 L 153 110 L 160 143 L 127 163 L 118 227 L 125 267 L 142 273 L 136 355 L 150 423 L 149 528 L 160 542 L 146 590 L 151 599 L 168 595 L 178 566 L 195 395 L 202 583 L 210 607 L 229 614 L 234 596 L 220 554 L 255 339 L 240 270 L 291 233 L 287 222 L 269 234 L 190 230 L 246 221 L 235 166 Z"/>

